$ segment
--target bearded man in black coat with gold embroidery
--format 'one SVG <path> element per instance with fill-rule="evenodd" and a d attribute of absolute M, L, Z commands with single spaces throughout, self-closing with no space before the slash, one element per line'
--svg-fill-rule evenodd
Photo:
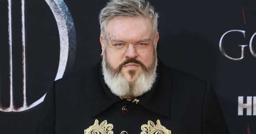
<path fill-rule="evenodd" d="M 108 2 L 102 61 L 55 82 L 36 133 L 227 134 L 212 87 L 157 60 L 157 18 L 144 0 Z"/>

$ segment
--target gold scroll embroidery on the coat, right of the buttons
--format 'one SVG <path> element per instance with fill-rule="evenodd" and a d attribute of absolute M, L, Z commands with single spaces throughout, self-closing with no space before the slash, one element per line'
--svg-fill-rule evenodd
<path fill-rule="evenodd" d="M 160 120 L 156 121 L 156 125 L 153 121 L 149 120 L 148 124 L 141 126 L 141 134 L 171 134 L 171 131 L 161 125 Z"/>

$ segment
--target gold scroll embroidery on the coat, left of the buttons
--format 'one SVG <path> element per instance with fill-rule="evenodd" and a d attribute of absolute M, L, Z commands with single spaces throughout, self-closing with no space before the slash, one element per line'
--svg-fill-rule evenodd
<path fill-rule="evenodd" d="M 104 120 L 99 125 L 99 121 L 96 119 L 94 124 L 88 129 L 84 130 L 84 134 L 113 134 L 113 124 L 107 124 L 107 120 Z"/>

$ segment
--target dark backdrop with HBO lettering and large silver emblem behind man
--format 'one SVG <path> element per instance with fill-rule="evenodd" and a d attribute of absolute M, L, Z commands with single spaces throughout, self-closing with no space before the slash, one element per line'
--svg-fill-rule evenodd
<path fill-rule="evenodd" d="M 32 134 L 53 82 L 100 60 L 106 2 L 0 0 L 1 134 Z M 159 59 L 214 85 L 231 134 L 256 134 L 255 2 L 150 2 Z"/>

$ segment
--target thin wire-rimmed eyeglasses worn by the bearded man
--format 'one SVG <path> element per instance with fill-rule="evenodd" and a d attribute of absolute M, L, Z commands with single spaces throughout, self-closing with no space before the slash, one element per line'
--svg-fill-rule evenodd
<path fill-rule="evenodd" d="M 106 41 L 107 42 L 107 41 Z M 108 43 L 108 42 L 107 42 Z M 129 45 L 132 44 L 136 52 L 146 52 L 149 50 L 152 43 L 117 43 L 117 44 L 109 44 L 109 47 L 112 48 L 112 50 L 115 53 L 125 53 L 129 47 Z"/>

